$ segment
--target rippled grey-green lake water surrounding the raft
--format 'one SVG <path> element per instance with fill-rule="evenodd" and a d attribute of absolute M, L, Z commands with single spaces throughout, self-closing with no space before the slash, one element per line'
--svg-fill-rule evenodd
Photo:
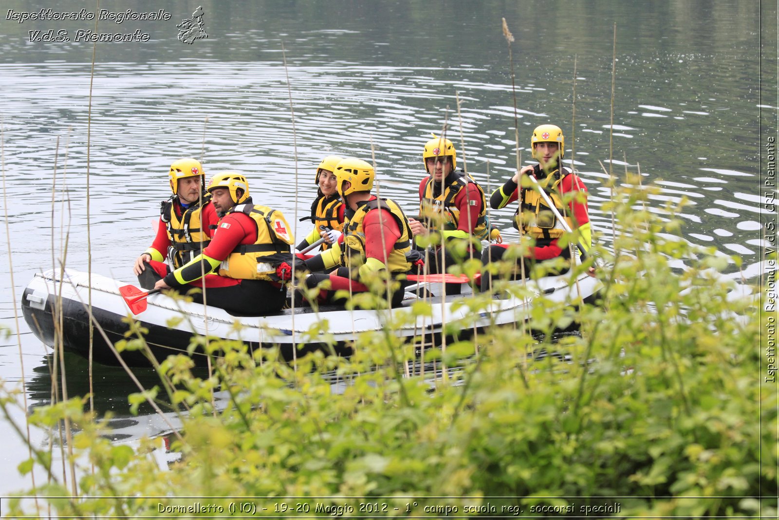
<path fill-rule="evenodd" d="M 534 126 L 562 127 L 566 158 L 575 150 L 590 189 L 598 242 L 608 246 L 612 235 L 611 216 L 601 210 L 610 193 L 600 163 L 616 175 L 640 167 L 644 182 L 662 186 L 652 210 L 688 200 L 686 239 L 741 256 L 745 278 L 753 279 L 765 245 L 761 222 L 773 218 L 760 196 L 760 126 L 777 116 L 776 5 L 763 3 L 166 2 L 168 20 L 99 22 L 98 33 L 139 30 L 149 39 L 97 44 L 89 119 L 93 45 L 76 41 L 76 31 L 94 30 L 94 21 L 19 23 L 5 19 L 8 9 L 50 5 L 6 0 L 0 116 L 8 245 L 0 256 L 13 278 L 0 279 L 0 316 L 19 334 L 0 344 L 5 388 L 23 388 L 28 408 L 50 397 L 49 350 L 21 319 L 23 287 L 63 258 L 68 267 L 91 265 L 134 282 L 132 261 L 150 244 L 159 201 L 170 194 L 167 168 L 178 157 L 202 157 L 207 174 L 245 173 L 256 202 L 297 222 L 310 207 L 323 156 L 370 160 L 373 147 L 382 195 L 413 214 L 422 145 L 449 122 L 458 159 L 485 189 L 499 186 L 514 164 L 502 17 L 516 37 L 523 161 L 530 161 Z M 208 37 L 184 44 L 176 24 L 197 5 Z M 84 6 L 64 1 L 53 9 Z M 100 9 L 151 12 L 159 5 L 100 2 Z M 71 41 L 30 41 L 37 30 L 65 30 Z M 495 211 L 492 219 L 510 228 L 512 212 Z M 308 231 L 301 223 L 296 235 Z M 67 371 L 70 395 L 86 393 L 86 363 L 69 359 Z M 153 384 L 153 374 L 141 377 Z M 122 373 L 95 369 L 99 412 L 126 415 L 130 391 Z M 23 413 L 15 419 L 23 421 Z M 5 420 L 0 436 L 9 448 L 0 456 L 4 495 L 30 480 L 17 476 L 26 448 Z M 32 438 L 48 443 L 41 432 Z"/>

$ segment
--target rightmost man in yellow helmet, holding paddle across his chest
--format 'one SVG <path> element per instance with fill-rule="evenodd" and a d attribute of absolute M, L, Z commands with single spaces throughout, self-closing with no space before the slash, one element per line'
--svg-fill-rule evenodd
<path fill-rule="evenodd" d="M 513 225 L 522 230 L 524 235 L 534 239 L 530 253 L 524 257 L 525 276 L 530 275 L 530 269 L 535 262 L 562 257 L 570 260 L 569 246 L 559 246 L 558 239 L 565 232 L 565 225 L 559 221 L 555 213 L 549 209 L 544 198 L 538 193 L 538 188 L 529 181 L 520 185 L 523 175 L 531 175 L 544 189 L 548 198 L 555 205 L 557 212 L 566 220 L 566 224 L 579 235 L 578 242 L 584 249 L 590 249 L 590 217 L 587 211 L 587 186 L 573 172 L 562 167 L 562 157 L 565 154 L 565 137 L 562 129 L 555 125 L 541 125 L 533 130 L 530 136 L 530 147 L 533 158 L 538 164 L 530 164 L 516 172 L 511 179 L 495 189 L 490 197 L 490 205 L 499 210 L 507 204 L 518 200 L 519 207 L 515 212 Z M 569 203 L 563 203 L 566 194 L 577 193 Z M 576 239 L 572 241 L 576 243 Z M 508 244 L 495 244 L 485 249 L 481 256 L 482 264 L 501 260 Z M 560 272 L 567 271 L 567 267 Z M 520 266 L 514 268 L 513 278 L 521 273 Z M 481 288 L 487 290 L 490 285 L 490 275 L 486 270 L 481 277 Z"/>

